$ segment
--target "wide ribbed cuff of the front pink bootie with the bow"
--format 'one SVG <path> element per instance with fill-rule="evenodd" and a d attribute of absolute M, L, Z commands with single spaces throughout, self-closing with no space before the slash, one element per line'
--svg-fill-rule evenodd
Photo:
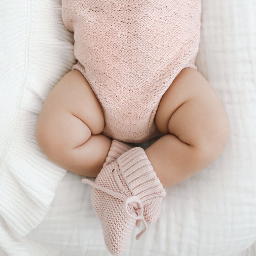
<path fill-rule="evenodd" d="M 136 147 L 119 156 L 117 163 L 130 192 L 143 204 L 166 195 L 164 187 L 142 148 Z"/>

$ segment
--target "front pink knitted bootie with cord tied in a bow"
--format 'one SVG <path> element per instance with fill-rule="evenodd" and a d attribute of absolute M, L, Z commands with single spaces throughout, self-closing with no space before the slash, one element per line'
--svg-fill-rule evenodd
<path fill-rule="evenodd" d="M 87 179 L 82 182 L 94 187 L 92 205 L 100 219 L 107 249 L 113 255 L 122 254 L 135 224 L 139 227 L 143 222 L 145 228 L 136 236 L 140 238 L 147 229 L 144 206 L 148 215 L 159 213 L 161 206 L 152 202 L 166 194 L 145 151 L 138 147 L 104 165 L 95 183 Z"/>

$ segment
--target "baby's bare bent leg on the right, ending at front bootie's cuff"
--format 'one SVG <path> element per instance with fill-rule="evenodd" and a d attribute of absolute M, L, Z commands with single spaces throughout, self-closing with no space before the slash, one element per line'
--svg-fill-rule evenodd
<path fill-rule="evenodd" d="M 162 185 L 175 185 L 208 166 L 223 151 L 230 124 L 207 80 L 186 68 L 161 99 L 155 116 L 167 134 L 145 150 Z"/>

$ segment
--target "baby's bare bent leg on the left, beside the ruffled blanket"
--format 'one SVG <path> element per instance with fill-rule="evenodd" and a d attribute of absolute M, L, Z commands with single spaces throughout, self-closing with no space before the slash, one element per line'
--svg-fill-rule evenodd
<path fill-rule="evenodd" d="M 36 125 L 36 139 L 49 160 L 76 174 L 96 177 L 111 139 L 100 134 L 105 121 L 84 76 L 73 70 L 47 96 Z"/>

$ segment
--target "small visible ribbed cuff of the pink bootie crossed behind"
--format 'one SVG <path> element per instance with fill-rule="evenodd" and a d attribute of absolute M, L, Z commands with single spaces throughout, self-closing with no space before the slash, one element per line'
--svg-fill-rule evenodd
<path fill-rule="evenodd" d="M 126 151 L 132 149 L 133 147 L 127 143 L 120 142 L 119 140 L 112 140 L 110 150 L 108 151 L 108 155 L 106 157 L 105 163 L 103 166 L 110 164 L 113 161 L 121 156 Z"/>

